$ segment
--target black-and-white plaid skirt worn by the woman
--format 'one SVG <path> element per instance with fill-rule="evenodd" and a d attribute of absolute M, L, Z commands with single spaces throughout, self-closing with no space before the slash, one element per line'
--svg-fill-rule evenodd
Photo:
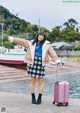
<path fill-rule="evenodd" d="M 27 73 L 34 77 L 44 77 L 45 76 L 45 66 L 42 66 L 42 58 L 34 57 L 34 63 L 27 65 Z"/>

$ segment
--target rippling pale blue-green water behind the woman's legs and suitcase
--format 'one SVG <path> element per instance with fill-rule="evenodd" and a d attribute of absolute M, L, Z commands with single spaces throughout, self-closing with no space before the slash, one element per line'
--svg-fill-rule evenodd
<path fill-rule="evenodd" d="M 70 73 L 62 75 L 46 75 L 45 77 L 45 88 L 43 94 L 45 96 L 53 96 L 54 83 L 57 80 L 65 80 L 70 84 L 69 97 L 80 98 L 80 73 Z M 30 94 L 29 90 L 30 81 L 18 81 L 12 83 L 0 84 L 0 91 L 16 92 Z M 38 84 L 36 84 L 36 93 L 38 93 Z"/>

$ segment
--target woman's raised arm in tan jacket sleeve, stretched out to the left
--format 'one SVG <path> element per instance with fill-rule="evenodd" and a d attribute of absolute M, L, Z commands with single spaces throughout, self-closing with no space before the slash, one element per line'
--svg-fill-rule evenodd
<path fill-rule="evenodd" d="M 8 39 L 9 39 L 10 42 L 14 42 L 15 44 L 24 46 L 26 48 L 28 48 L 28 46 L 29 46 L 28 45 L 28 43 L 29 43 L 28 40 L 21 39 L 21 38 L 15 38 L 15 37 L 12 37 L 12 36 L 9 36 Z"/>

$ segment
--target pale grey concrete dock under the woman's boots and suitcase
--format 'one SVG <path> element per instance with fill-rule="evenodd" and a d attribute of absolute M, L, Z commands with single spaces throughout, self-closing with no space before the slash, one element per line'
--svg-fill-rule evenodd
<path fill-rule="evenodd" d="M 31 96 L 0 92 L 0 113 L 80 113 L 80 99 L 69 99 L 69 105 L 53 105 L 53 97 L 42 97 L 42 104 L 31 104 Z"/>

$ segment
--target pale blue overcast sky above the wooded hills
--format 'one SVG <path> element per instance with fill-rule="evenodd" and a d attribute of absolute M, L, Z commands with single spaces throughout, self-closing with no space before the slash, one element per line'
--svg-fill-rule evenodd
<path fill-rule="evenodd" d="M 80 24 L 80 0 L 0 0 L 0 5 L 31 24 L 39 25 L 40 19 L 49 30 L 70 18 Z"/>

